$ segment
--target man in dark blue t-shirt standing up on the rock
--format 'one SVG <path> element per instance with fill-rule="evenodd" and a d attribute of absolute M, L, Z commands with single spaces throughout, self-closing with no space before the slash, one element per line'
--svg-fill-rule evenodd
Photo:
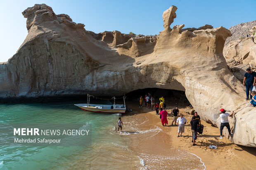
<path fill-rule="evenodd" d="M 249 91 L 252 91 L 252 88 L 255 86 L 256 82 L 256 73 L 254 71 L 251 71 L 250 68 L 246 69 L 246 72 L 244 74 L 244 85 L 246 86 L 246 100 L 249 100 Z M 246 80 L 246 83 L 245 83 Z M 252 96 L 250 94 L 250 100 L 252 99 Z"/>

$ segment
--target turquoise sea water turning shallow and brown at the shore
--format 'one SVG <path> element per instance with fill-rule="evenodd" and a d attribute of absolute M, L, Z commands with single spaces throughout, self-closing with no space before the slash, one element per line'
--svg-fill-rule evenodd
<path fill-rule="evenodd" d="M 170 136 L 160 127 L 152 126 L 147 116 L 84 112 L 73 106 L 75 103 L 81 101 L 0 104 L 3 124 L 92 124 L 92 145 L 89 147 L 0 147 L 0 168 L 204 169 L 196 156 L 172 148 Z M 120 116 L 124 126 L 122 132 L 117 132 Z"/>

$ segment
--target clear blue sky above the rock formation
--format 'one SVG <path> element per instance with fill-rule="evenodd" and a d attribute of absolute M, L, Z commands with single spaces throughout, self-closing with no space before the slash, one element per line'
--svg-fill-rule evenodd
<path fill-rule="evenodd" d="M 68 14 L 95 33 L 119 30 L 122 33 L 154 35 L 163 27 L 163 12 L 178 7 L 174 23 L 185 28 L 205 24 L 230 28 L 256 20 L 256 0 L 1 0 L 0 62 L 7 61 L 24 41 L 27 7 L 45 3 L 55 14 Z"/>

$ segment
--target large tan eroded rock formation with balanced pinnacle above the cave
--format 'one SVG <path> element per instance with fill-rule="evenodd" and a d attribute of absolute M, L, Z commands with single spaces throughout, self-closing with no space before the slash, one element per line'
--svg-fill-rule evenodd
<path fill-rule="evenodd" d="M 0 64 L 0 97 L 122 95 L 149 87 L 182 90 L 200 117 L 218 127 L 220 108 L 235 110 L 230 140 L 256 147 L 256 110 L 244 101 L 244 86 L 223 57 L 230 31 L 182 31 L 184 25 L 171 29 L 176 9 L 164 12 L 159 36 L 127 41 L 119 32 L 85 31 L 83 24 L 56 15 L 44 4 L 26 9 L 28 35 L 17 53 Z"/>

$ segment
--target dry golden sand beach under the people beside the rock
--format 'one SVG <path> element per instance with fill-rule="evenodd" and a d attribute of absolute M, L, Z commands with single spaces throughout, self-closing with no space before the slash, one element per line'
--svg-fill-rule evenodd
<path fill-rule="evenodd" d="M 171 113 L 170 109 L 176 106 L 176 104 L 173 105 L 171 103 L 167 103 L 166 105 L 168 113 Z M 156 149 L 164 149 L 171 145 L 176 149 L 185 150 L 199 156 L 207 170 L 218 170 L 220 168 L 232 168 L 236 170 L 255 169 L 256 148 L 236 145 L 228 140 L 228 138 L 219 139 L 219 129 L 207 122 L 201 121 L 201 124 L 204 125 L 203 134 L 198 136 L 196 140 L 197 146 L 192 146 L 191 127 L 189 125 L 192 115 L 185 113 L 185 106 L 178 105 L 180 113 L 185 115 L 184 117 L 188 122 L 188 124 L 185 125 L 185 133 L 183 133 L 183 137 L 177 137 L 178 126 L 171 126 L 173 117 L 168 116 L 168 125 L 162 126 L 159 115 L 156 115 L 155 110 L 146 109 L 145 106 L 139 108 L 137 102 L 129 103 L 129 107 L 133 110 L 132 113 L 127 114 L 129 117 L 133 117 L 136 114 L 145 115 L 149 119 L 149 123 L 152 127 L 158 126 L 163 132 L 168 134 L 167 136 L 162 136 L 166 144 L 161 145 L 159 148 L 151 147 L 147 152 L 154 152 Z M 124 117 L 123 119 L 126 118 Z M 146 143 L 152 144 L 158 142 L 159 137 L 150 138 L 150 141 L 146 141 Z M 216 145 L 218 148 L 210 149 L 209 145 Z M 137 146 L 135 146 L 135 148 L 136 147 Z M 180 163 L 180 165 L 182 164 L 183 163 Z"/>

